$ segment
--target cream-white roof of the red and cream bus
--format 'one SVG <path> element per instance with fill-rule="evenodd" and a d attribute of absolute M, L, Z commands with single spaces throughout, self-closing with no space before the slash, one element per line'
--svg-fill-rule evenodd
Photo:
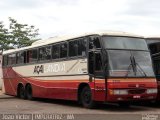
<path fill-rule="evenodd" d="M 32 43 L 31 46 L 27 46 L 27 47 L 23 47 L 23 48 L 19 48 L 19 49 L 11 49 L 11 50 L 4 51 L 3 54 L 9 54 L 9 53 L 17 52 L 17 51 L 23 51 L 23 50 L 27 50 L 27 49 L 31 49 L 31 48 L 40 47 L 40 46 L 43 46 L 43 45 L 63 42 L 63 41 L 66 41 L 66 40 L 80 38 L 80 37 L 85 37 L 85 36 L 91 36 L 91 35 L 100 35 L 100 36 L 108 35 L 108 36 L 125 36 L 125 37 L 144 38 L 143 36 L 135 35 L 135 34 L 127 33 L 127 32 L 100 31 L 100 32 L 84 33 L 84 34 L 79 34 L 79 35 L 68 35 L 68 36 L 61 36 L 61 37 L 59 37 L 59 36 L 57 36 L 57 37 L 50 37 L 50 38 L 48 38 L 46 40 L 38 40 L 38 41 Z"/>

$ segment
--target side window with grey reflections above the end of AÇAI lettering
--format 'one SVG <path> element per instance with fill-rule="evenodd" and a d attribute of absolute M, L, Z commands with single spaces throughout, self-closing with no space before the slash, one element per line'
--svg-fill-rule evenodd
<path fill-rule="evenodd" d="M 39 49 L 39 60 L 50 60 L 51 59 L 51 46 L 43 47 Z"/>

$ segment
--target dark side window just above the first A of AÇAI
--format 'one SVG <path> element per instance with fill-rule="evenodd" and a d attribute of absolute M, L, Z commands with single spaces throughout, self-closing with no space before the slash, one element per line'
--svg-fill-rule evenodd
<path fill-rule="evenodd" d="M 28 60 L 29 62 L 36 62 L 37 61 L 37 49 L 29 50 L 28 51 Z"/>

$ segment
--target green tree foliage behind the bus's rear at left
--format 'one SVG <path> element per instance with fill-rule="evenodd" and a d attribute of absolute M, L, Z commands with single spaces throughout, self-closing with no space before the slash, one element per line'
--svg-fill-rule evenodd
<path fill-rule="evenodd" d="M 38 36 L 38 29 L 28 24 L 20 24 L 9 17 L 9 28 L 6 29 L 0 22 L 0 50 L 21 48 L 31 45 Z"/>

